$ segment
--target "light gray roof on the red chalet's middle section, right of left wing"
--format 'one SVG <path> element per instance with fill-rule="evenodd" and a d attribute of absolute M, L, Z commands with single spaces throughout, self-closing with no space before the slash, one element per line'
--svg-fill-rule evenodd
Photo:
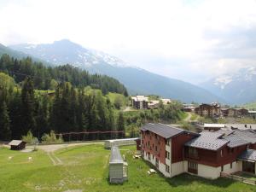
<path fill-rule="evenodd" d="M 185 146 L 216 151 L 218 148 L 222 148 L 225 144 L 229 143 L 229 141 L 220 138 L 223 136 L 220 133 L 203 131 L 200 135 L 200 137 L 185 143 Z"/>

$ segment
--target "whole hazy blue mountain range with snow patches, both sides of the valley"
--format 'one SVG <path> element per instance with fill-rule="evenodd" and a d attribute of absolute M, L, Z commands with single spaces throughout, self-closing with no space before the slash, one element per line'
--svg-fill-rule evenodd
<path fill-rule="evenodd" d="M 205 83 L 189 84 L 132 67 L 119 58 L 95 49 L 86 49 L 67 39 L 53 44 L 0 44 L 0 55 L 7 53 L 17 58 L 32 56 L 49 66 L 71 64 L 118 79 L 131 95 L 159 95 L 182 102 L 225 102 L 241 104 L 256 100 L 256 68 L 245 67 L 238 73 L 222 75 Z"/>

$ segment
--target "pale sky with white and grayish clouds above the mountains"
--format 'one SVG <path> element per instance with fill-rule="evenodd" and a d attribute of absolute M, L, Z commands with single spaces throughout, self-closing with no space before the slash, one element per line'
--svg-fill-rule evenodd
<path fill-rule="evenodd" d="M 256 67 L 256 0 L 0 0 L 0 44 L 67 38 L 200 84 Z"/>

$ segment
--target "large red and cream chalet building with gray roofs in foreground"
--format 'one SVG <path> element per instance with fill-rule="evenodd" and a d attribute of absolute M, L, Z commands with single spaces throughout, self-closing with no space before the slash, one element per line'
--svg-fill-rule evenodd
<path fill-rule="evenodd" d="M 238 171 L 256 174 L 256 132 L 203 131 L 200 134 L 163 124 L 141 128 L 141 153 L 166 177 L 189 172 L 217 178 Z"/>

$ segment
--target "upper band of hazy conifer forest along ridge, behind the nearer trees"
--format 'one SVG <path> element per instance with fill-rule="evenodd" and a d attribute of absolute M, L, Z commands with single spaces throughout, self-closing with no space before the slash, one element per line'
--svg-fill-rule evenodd
<path fill-rule="evenodd" d="M 45 67 L 43 63 L 33 62 L 30 57 L 17 60 L 9 55 L 0 58 L 0 71 L 8 73 L 20 83 L 27 76 L 32 77 L 34 88 L 38 90 L 55 90 L 58 83 L 70 82 L 75 87 L 90 85 L 93 89 L 102 90 L 103 94 L 116 92 L 128 95 L 123 84 L 106 75 L 90 74 L 78 67 L 64 65 L 59 67 Z"/>

